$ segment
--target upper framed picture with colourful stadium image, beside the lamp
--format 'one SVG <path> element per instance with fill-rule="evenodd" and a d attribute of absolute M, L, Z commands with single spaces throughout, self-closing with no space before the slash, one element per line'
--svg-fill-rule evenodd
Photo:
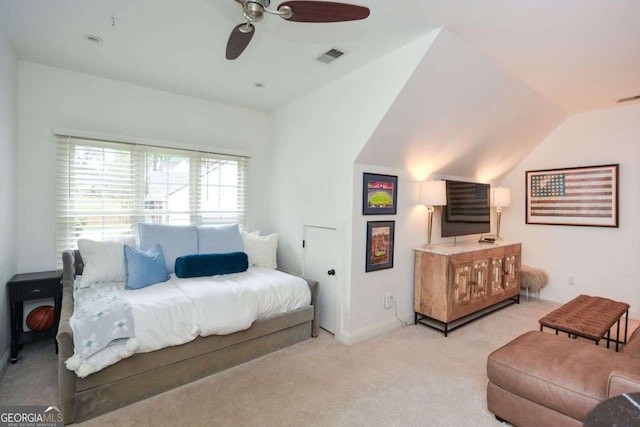
<path fill-rule="evenodd" d="M 397 204 L 397 176 L 362 174 L 362 215 L 395 215 Z"/>

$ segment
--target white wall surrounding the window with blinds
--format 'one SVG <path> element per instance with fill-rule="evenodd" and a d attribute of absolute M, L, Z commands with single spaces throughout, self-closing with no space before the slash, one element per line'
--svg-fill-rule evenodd
<path fill-rule="evenodd" d="M 155 138 L 251 152 L 251 228 L 269 205 L 266 113 L 39 64 L 19 64 L 17 268 L 50 270 L 55 250 L 54 128 Z"/>

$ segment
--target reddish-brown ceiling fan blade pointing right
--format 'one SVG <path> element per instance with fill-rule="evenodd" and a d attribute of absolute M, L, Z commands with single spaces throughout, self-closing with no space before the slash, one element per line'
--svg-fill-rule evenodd
<path fill-rule="evenodd" d="M 369 16 L 369 8 L 346 3 L 328 1 L 286 1 L 278 6 L 291 8 L 291 17 L 284 17 L 294 22 L 343 22 L 357 21 Z"/>

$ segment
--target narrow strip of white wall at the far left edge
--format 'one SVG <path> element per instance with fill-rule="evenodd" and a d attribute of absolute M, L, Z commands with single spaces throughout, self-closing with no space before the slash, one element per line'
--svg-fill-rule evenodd
<path fill-rule="evenodd" d="M 16 272 L 16 151 L 18 60 L 0 28 L 0 378 L 9 359 L 9 303 L 5 283 Z"/>

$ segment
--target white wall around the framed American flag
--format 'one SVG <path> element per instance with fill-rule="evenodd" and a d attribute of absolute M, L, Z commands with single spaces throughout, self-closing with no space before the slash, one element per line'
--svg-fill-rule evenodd
<path fill-rule="evenodd" d="M 640 315 L 640 105 L 570 116 L 511 173 L 502 235 L 520 240 L 523 262 L 544 268 L 541 297 L 566 302 L 579 294 L 625 301 Z M 525 171 L 620 164 L 619 228 L 525 224 Z M 568 284 L 573 277 L 575 285 Z"/>

